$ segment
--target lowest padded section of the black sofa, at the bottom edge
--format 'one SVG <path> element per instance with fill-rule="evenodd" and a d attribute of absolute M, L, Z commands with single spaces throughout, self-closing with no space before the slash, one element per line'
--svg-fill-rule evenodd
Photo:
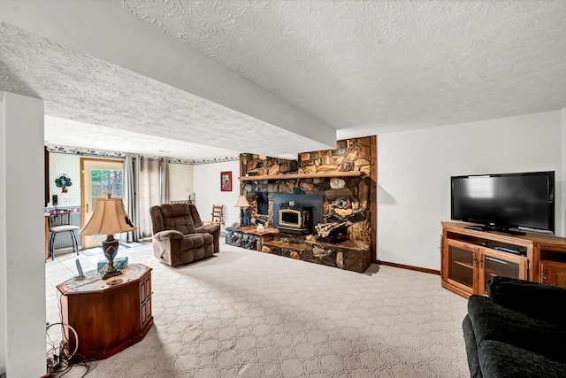
<path fill-rule="evenodd" d="M 560 362 L 494 340 L 485 340 L 479 345 L 478 357 L 485 377 L 559 378 L 566 375 L 566 365 Z"/>

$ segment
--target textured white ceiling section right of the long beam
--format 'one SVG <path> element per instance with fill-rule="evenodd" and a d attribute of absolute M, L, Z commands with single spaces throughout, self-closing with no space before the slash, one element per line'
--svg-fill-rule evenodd
<path fill-rule="evenodd" d="M 563 0 L 113 0 L 340 136 L 566 107 Z"/>

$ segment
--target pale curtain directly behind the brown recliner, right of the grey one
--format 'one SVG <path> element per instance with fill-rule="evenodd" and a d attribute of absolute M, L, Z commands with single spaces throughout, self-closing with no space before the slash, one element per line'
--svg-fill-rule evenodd
<path fill-rule="evenodd" d="M 141 158 L 139 198 L 140 221 L 138 229 L 142 238 L 151 237 L 151 206 L 162 204 L 161 201 L 161 161 L 153 158 Z"/>

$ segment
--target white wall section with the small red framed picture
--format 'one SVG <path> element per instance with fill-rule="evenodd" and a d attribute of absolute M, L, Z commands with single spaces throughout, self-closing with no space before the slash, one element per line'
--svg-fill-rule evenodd
<path fill-rule="evenodd" d="M 225 171 L 232 171 L 232 191 L 220 191 L 220 172 Z M 211 220 L 213 204 L 224 204 L 226 227 L 233 222 L 240 222 L 240 208 L 234 207 L 240 196 L 238 176 L 239 160 L 193 166 L 195 204 L 202 220 Z"/>

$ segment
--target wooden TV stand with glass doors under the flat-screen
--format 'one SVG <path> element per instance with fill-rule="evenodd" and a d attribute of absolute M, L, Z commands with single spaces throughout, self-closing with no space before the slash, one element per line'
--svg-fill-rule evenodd
<path fill-rule="evenodd" d="M 495 275 L 566 288 L 566 238 L 533 233 L 506 235 L 466 226 L 470 224 L 442 222 L 443 288 L 466 298 L 485 295 L 486 283 Z"/>

